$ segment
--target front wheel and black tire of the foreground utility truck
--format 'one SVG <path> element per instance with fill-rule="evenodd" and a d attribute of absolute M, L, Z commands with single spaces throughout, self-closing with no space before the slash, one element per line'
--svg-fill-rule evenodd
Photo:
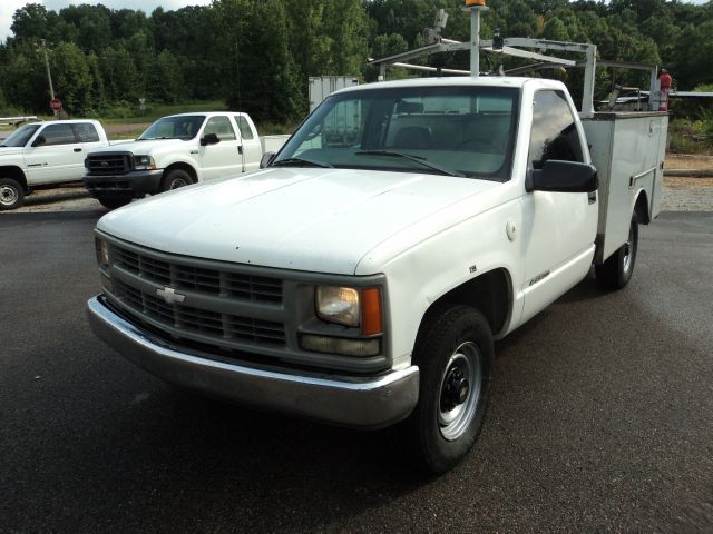
<path fill-rule="evenodd" d="M 392 436 L 417 468 L 440 474 L 468 454 L 480 432 L 495 348 L 490 325 L 476 308 L 440 308 L 424 320 L 413 352 L 419 402 Z"/>

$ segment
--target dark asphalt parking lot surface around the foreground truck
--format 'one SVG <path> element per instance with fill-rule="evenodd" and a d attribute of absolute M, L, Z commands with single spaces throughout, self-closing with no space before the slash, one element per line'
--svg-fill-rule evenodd
<path fill-rule="evenodd" d="M 713 532 L 713 212 L 664 212 L 626 289 L 588 278 L 499 343 L 480 438 L 439 478 L 102 345 L 104 212 L 0 216 L 1 533 Z"/>

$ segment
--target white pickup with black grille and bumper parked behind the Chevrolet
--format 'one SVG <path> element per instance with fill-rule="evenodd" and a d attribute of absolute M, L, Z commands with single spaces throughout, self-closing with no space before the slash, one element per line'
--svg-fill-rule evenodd
<path fill-rule="evenodd" d="M 84 182 L 92 197 L 114 209 L 147 194 L 257 170 L 263 144 L 276 149 L 287 137 L 261 139 L 246 113 L 163 117 L 133 142 L 90 152 Z"/>

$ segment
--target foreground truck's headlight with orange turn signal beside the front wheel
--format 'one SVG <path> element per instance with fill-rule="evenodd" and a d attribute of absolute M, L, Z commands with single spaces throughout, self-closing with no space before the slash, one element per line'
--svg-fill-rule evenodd
<path fill-rule="evenodd" d="M 381 289 L 378 287 L 316 286 L 316 315 L 320 319 L 356 328 L 372 336 L 383 333 Z"/>

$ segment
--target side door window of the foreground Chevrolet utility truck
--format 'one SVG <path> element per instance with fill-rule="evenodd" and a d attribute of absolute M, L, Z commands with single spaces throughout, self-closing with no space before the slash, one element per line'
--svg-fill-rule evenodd
<path fill-rule="evenodd" d="M 575 119 L 561 91 L 535 93 L 528 159 L 534 169 L 548 159 L 584 161 Z"/>

